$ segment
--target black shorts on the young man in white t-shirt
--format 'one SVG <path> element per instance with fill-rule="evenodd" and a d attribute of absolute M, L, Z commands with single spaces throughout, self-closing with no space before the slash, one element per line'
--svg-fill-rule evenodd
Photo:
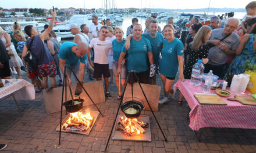
<path fill-rule="evenodd" d="M 93 73 L 93 77 L 98 79 L 102 77 L 105 78 L 109 78 L 110 72 L 109 72 L 109 65 L 108 64 L 98 64 L 98 63 L 94 63 L 94 73 Z"/>

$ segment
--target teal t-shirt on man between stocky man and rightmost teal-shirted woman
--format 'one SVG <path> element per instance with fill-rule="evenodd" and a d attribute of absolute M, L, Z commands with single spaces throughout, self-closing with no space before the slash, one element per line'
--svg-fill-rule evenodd
<path fill-rule="evenodd" d="M 154 57 L 154 64 L 159 65 L 159 54 L 163 45 L 163 35 L 157 32 L 157 36 L 152 38 L 150 33 L 142 34 L 143 37 L 147 38 L 151 43 L 152 53 Z"/>

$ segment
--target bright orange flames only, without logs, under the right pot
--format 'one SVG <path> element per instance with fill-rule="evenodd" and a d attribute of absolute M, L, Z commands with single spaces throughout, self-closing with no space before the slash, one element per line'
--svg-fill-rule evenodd
<path fill-rule="evenodd" d="M 137 128 L 136 124 L 131 122 L 130 118 L 123 119 L 123 117 L 122 117 L 121 119 L 122 119 L 123 125 L 125 125 L 125 128 L 124 128 L 125 133 L 130 134 L 130 135 L 141 133 L 140 129 Z M 133 119 L 133 120 L 138 122 L 137 119 Z"/>

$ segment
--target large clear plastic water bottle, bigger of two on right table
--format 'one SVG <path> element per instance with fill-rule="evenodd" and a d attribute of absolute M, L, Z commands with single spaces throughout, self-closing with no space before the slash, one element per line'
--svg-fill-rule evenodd
<path fill-rule="evenodd" d="M 204 74 L 204 64 L 202 64 L 202 60 L 197 60 L 192 68 L 190 83 L 194 86 L 201 86 L 202 74 Z"/>

